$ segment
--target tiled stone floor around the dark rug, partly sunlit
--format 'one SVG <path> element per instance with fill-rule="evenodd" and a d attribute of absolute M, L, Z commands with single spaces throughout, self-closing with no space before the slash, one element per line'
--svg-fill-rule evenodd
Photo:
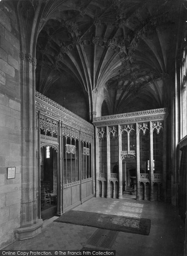
<path fill-rule="evenodd" d="M 162 202 L 136 201 L 134 198 L 92 198 L 74 210 L 150 218 L 149 236 L 119 232 L 112 249 L 116 256 L 183 256 L 184 224 L 176 207 Z M 6 250 L 79 250 L 91 247 L 88 239 L 97 230 L 74 224 L 45 220 L 42 233 L 15 241 Z M 52 222 L 51 222 L 52 221 Z"/>

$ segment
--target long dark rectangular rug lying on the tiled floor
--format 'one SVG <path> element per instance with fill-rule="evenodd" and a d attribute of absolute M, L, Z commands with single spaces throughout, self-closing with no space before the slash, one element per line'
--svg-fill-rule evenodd
<path fill-rule="evenodd" d="M 55 221 L 140 235 L 149 235 L 150 232 L 150 219 L 109 215 L 96 212 L 71 210 L 57 218 Z"/>

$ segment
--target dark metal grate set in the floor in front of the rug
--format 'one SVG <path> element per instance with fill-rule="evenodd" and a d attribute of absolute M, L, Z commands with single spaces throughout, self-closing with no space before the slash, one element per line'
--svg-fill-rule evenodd
<path fill-rule="evenodd" d="M 111 248 L 113 245 L 113 242 L 116 240 L 117 235 L 118 235 L 118 231 L 104 230 L 99 228 L 91 236 L 87 244 L 98 246 L 98 247 Z"/>

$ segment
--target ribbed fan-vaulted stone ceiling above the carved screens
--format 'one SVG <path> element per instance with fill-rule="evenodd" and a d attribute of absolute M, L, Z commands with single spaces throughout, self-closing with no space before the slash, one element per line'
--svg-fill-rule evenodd
<path fill-rule="evenodd" d="M 110 114 L 164 107 L 175 2 L 45 1 L 37 39 L 37 90 L 49 97 L 56 93 L 56 101 L 63 98 L 63 88 L 82 90 L 87 110 L 96 115 L 103 101 Z"/>

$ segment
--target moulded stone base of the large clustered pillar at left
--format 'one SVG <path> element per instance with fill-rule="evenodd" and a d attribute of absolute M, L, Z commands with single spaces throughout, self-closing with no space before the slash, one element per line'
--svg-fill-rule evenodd
<path fill-rule="evenodd" d="M 43 220 L 38 219 L 36 224 L 31 227 L 20 227 L 16 230 L 16 236 L 18 240 L 25 240 L 33 238 L 41 233 L 41 227 L 43 225 Z"/>

